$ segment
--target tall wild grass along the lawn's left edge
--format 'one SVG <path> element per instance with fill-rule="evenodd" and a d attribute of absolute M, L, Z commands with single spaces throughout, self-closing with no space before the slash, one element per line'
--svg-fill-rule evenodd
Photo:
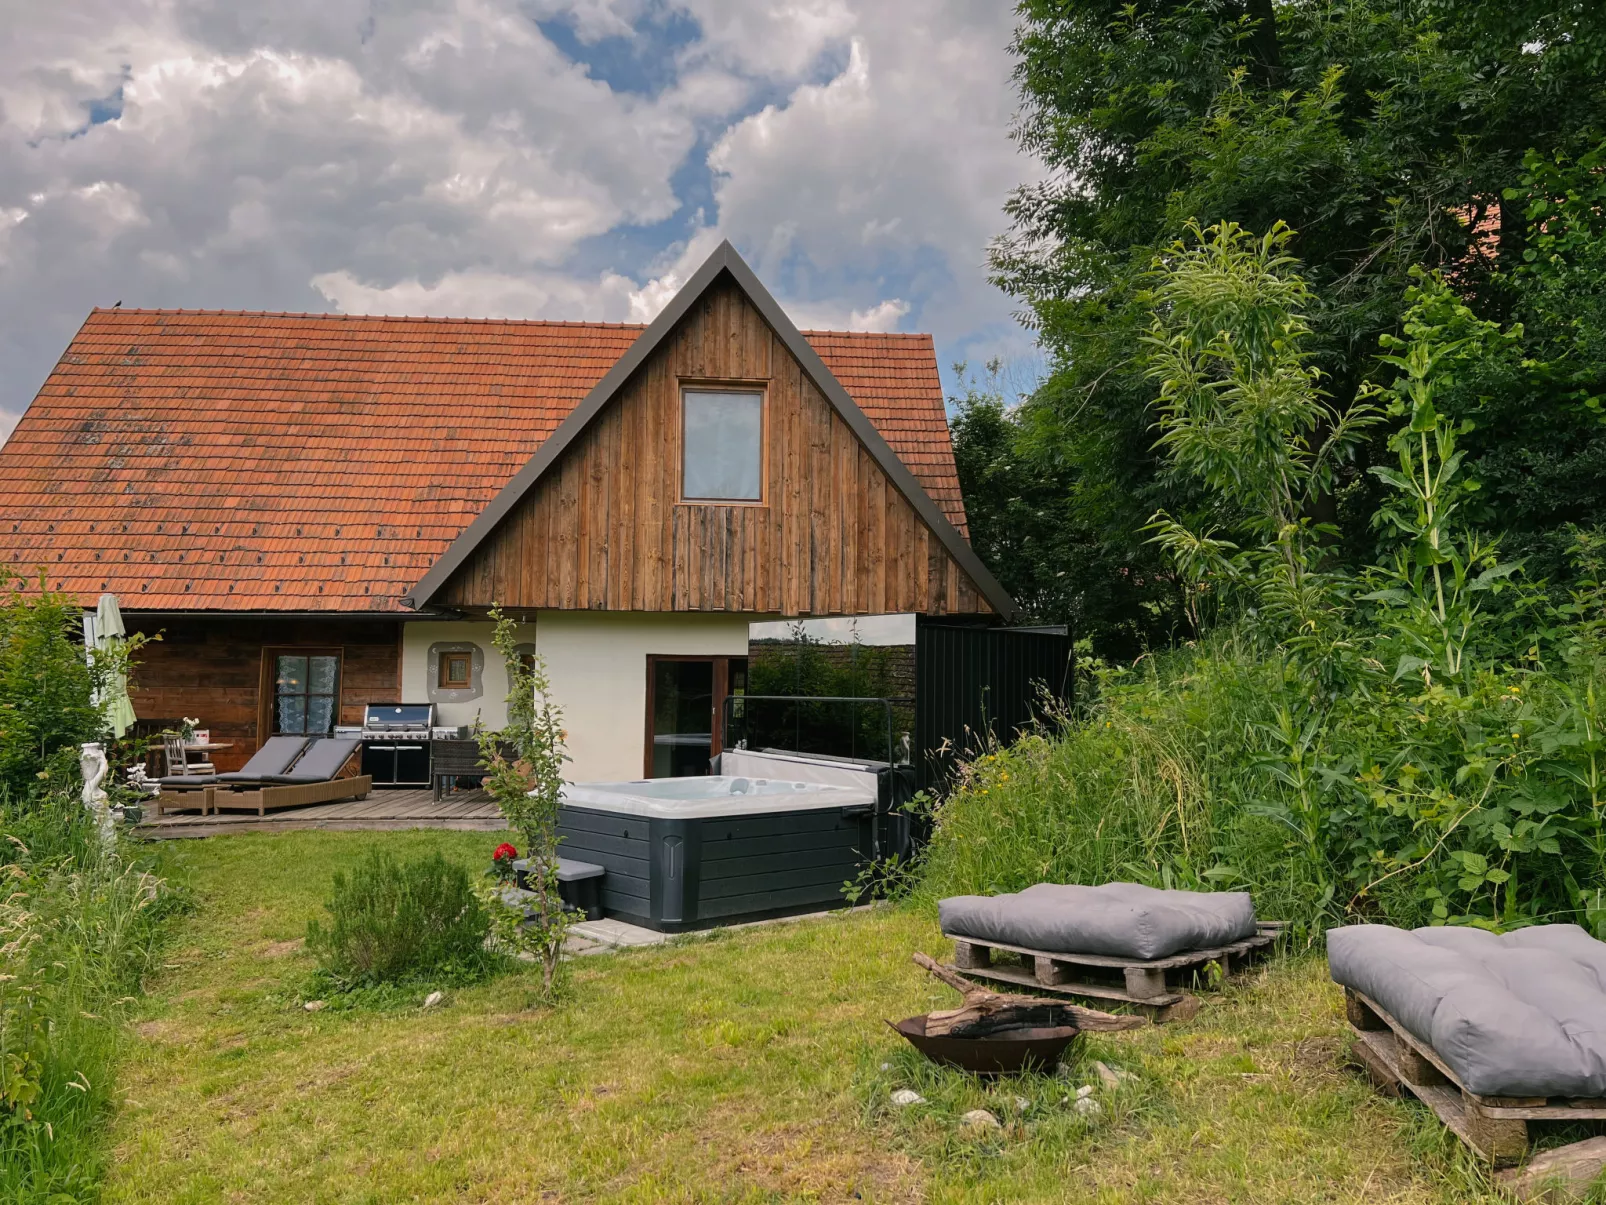
<path fill-rule="evenodd" d="M 74 802 L 0 808 L 0 1200 L 90 1200 L 122 1019 L 180 895 L 127 852 L 74 839 Z M 51 819 L 59 823 L 51 823 Z M 37 845 L 22 832 L 43 837 Z"/>

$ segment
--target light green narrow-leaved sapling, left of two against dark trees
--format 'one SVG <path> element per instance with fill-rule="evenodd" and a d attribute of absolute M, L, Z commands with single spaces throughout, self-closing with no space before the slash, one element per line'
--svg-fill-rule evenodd
<path fill-rule="evenodd" d="M 1213 585 L 1243 582 L 1288 631 L 1325 627 L 1323 527 L 1310 516 L 1380 418 L 1363 400 L 1339 410 L 1322 390 L 1306 318 L 1314 299 L 1291 238 L 1282 222 L 1259 238 L 1233 222 L 1190 223 L 1156 260 L 1142 341 L 1160 384 L 1156 448 L 1169 474 L 1208 488 L 1214 508 L 1204 527 L 1158 511 L 1150 530 L 1192 583 L 1195 625 Z M 1219 537 L 1224 527 L 1248 546 Z"/>

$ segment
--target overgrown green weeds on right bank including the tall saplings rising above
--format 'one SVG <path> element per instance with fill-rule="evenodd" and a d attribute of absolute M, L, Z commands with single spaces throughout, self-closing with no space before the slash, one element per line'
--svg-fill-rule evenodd
<path fill-rule="evenodd" d="M 1237 275 L 1288 270 L 1267 263 L 1266 246 L 1208 236 L 1219 254 L 1203 267 L 1182 257 L 1169 292 L 1156 291 L 1172 299 L 1156 312 L 1160 334 L 1190 320 L 1179 291 L 1214 304 L 1237 296 Z M 1262 310 L 1296 304 L 1298 291 L 1261 300 L 1254 323 L 1293 347 L 1298 315 Z M 1217 305 L 1208 326 L 1225 349 L 1253 347 L 1233 321 Z M 1161 426 L 1182 431 L 1185 419 L 1216 456 L 1198 468 L 1177 453 L 1176 471 L 1216 488 L 1217 517 L 1237 516 L 1262 543 L 1238 549 L 1160 522 L 1192 596 L 1209 602 L 1193 607 L 1203 635 L 1100 672 L 1094 702 L 1063 731 L 968 765 L 938 811 L 923 890 L 1137 879 L 1249 890 L 1262 916 L 1312 940 L 1346 919 L 1566 921 L 1606 937 L 1601 538 L 1575 533 L 1580 585 L 1564 601 L 1524 583 L 1495 541 L 1460 525 L 1476 490 L 1457 448 L 1465 424 L 1436 405 L 1502 337 L 1442 280 L 1418 276 L 1404 337 L 1388 344 L 1397 353 L 1383 357 L 1394 381 L 1372 390 L 1399 421 L 1399 468 L 1373 469 L 1394 490 L 1376 519 L 1397 549 L 1359 574 L 1325 564 L 1320 529 L 1296 517 L 1294 495 L 1245 517 L 1254 496 L 1224 484 L 1296 476 L 1290 464 L 1312 461 L 1315 411 L 1264 403 L 1282 397 L 1278 381 L 1298 392 L 1315 378 L 1277 357 L 1160 362 L 1190 374 L 1168 394 L 1187 406 Z M 1259 469 L 1233 468 L 1259 455 Z"/>

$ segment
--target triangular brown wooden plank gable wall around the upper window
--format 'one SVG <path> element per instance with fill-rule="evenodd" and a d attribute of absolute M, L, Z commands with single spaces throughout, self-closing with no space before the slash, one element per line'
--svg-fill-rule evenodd
<path fill-rule="evenodd" d="M 681 384 L 716 381 L 766 389 L 763 504 L 679 501 Z M 731 283 L 703 296 L 437 601 L 782 615 L 991 611 Z"/>

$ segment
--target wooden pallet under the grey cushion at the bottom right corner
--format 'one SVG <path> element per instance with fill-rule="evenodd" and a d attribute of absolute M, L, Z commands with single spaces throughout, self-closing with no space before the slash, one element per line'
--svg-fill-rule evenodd
<path fill-rule="evenodd" d="M 1439 1054 L 1410 1030 L 1400 1025 L 1372 998 L 1344 988 L 1344 1014 L 1349 1030 L 1355 1035 L 1354 1057 L 1372 1081 L 1389 1096 L 1410 1093 L 1428 1105 L 1450 1131 L 1474 1154 L 1495 1166 L 1519 1163 L 1529 1152 L 1529 1121 L 1601 1121 L 1606 1120 L 1606 1101 L 1543 1096 L 1479 1096 L 1469 1093 L 1455 1072 Z M 1580 1150 L 1580 1149 L 1588 1150 Z M 1566 1152 L 1593 1158 L 1595 1173 L 1606 1168 L 1606 1147 L 1600 1139 L 1558 1147 L 1534 1160 L 1524 1176 L 1506 1176 L 1508 1184 L 1531 1176 L 1543 1160 L 1550 1163 L 1577 1165 Z M 1588 1171 L 1587 1166 L 1582 1171 Z M 1569 1174 L 1582 1174 L 1574 1166 Z M 1592 1179 L 1593 1174 L 1588 1178 Z M 1587 1183 L 1587 1181 L 1585 1181 Z"/>

